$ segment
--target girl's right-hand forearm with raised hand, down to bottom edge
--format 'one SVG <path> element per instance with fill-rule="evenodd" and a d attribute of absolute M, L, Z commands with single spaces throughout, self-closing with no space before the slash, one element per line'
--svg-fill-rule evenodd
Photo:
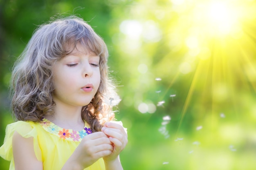
<path fill-rule="evenodd" d="M 124 150 L 128 143 L 127 133 L 124 127 L 114 122 L 107 122 L 102 130 L 113 144 L 113 150 L 110 155 L 103 157 L 106 170 L 123 170 L 119 154 Z"/>

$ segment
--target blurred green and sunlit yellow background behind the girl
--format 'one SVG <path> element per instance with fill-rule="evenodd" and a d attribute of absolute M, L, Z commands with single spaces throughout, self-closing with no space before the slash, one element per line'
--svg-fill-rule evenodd
<path fill-rule="evenodd" d="M 60 13 L 108 45 L 125 170 L 256 169 L 255 0 L 0 0 L 0 145 L 13 62 Z"/>

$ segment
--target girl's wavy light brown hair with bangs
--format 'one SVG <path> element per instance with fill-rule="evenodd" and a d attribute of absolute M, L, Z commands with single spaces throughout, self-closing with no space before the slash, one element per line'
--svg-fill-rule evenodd
<path fill-rule="evenodd" d="M 82 119 L 93 132 L 100 131 L 107 120 L 114 119 L 110 105 L 118 103 L 119 97 L 109 77 L 107 46 L 89 24 L 76 16 L 54 19 L 39 26 L 15 62 L 11 77 L 11 107 L 16 119 L 37 122 L 44 115 L 54 114 L 52 66 L 71 53 L 70 49 L 75 49 L 76 44 L 100 56 L 101 82 L 90 104 L 83 106 Z"/>

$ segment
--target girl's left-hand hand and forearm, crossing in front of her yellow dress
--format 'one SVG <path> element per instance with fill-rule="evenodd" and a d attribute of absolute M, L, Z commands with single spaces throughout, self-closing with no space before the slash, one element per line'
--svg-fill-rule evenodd
<path fill-rule="evenodd" d="M 62 170 L 68 170 L 70 165 L 83 170 L 92 165 L 101 157 L 112 154 L 113 146 L 109 137 L 103 132 L 94 132 L 83 138 L 71 157 L 67 160 Z M 74 168 L 74 167 L 72 167 Z"/>

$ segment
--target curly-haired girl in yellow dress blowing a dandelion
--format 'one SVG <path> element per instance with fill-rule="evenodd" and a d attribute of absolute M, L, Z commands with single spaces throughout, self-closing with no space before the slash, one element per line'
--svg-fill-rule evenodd
<path fill-rule="evenodd" d="M 118 103 L 106 44 L 75 16 L 40 26 L 16 62 L 0 156 L 10 170 L 122 170 L 126 130 L 110 121 Z"/>

